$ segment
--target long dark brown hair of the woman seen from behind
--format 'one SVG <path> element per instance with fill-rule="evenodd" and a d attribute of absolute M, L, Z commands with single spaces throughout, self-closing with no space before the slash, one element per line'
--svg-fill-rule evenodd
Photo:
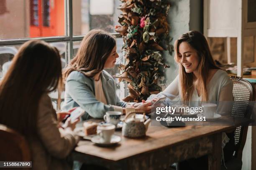
<path fill-rule="evenodd" d="M 59 51 L 41 40 L 24 43 L 0 81 L 0 123 L 25 136 L 36 134 L 39 100 L 59 81 Z"/>

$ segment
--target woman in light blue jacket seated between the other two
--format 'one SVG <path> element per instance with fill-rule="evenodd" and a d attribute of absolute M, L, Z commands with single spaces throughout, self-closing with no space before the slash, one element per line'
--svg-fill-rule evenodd
<path fill-rule="evenodd" d="M 115 66 L 118 58 L 115 38 L 103 30 L 91 30 L 81 42 L 76 57 L 64 70 L 64 110 L 80 106 L 83 120 L 102 118 L 107 111 L 125 113 L 126 102 L 115 93 L 115 81 L 104 68 Z M 150 110 L 150 102 L 135 110 Z M 136 105 L 135 105 L 136 106 Z"/>

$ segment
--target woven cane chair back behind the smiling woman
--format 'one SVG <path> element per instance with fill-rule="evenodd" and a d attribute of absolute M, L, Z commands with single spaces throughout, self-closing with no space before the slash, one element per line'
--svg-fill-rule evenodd
<path fill-rule="evenodd" d="M 231 76 L 233 81 L 234 104 L 231 115 L 235 117 L 251 117 L 249 101 L 254 99 L 254 87 L 241 77 Z M 238 126 L 235 130 L 235 157 L 242 158 L 246 142 L 248 126 Z"/>

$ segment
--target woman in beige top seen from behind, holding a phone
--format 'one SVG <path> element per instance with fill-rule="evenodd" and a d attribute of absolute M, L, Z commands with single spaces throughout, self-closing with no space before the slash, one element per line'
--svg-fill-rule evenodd
<path fill-rule="evenodd" d="M 31 148 L 33 169 L 67 169 L 61 159 L 78 142 L 67 120 L 58 128 L 56 112 L 47 93 L 61 81 L 59 51 L 41 40 L 23 44 L 0 81 L 0 123 L 24 135 Z"/>

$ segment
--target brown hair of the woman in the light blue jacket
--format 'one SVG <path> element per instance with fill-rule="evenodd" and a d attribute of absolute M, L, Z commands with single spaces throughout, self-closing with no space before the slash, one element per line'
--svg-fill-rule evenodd
<path fill-rule="evenodd" d="M 115 44 L 115 38 L 103 30 L 88 32 L 80 44 L 77 55 L 64 70 L 64 80 L 75 70 L 88 77 L 102 71 Z"/>

